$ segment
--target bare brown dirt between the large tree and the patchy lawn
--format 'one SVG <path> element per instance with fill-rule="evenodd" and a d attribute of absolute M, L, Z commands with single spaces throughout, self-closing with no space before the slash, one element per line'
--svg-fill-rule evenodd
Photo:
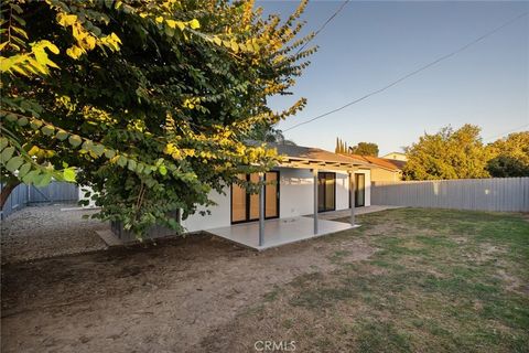
<path fill-rule="evenodd" d="M 2 352 L 206 352 L 201 341 L 270 291 L 333 271 L 339 249 L 375 252 L 353 233 L 264 253 L 196 235 L 7 265 Z"/>

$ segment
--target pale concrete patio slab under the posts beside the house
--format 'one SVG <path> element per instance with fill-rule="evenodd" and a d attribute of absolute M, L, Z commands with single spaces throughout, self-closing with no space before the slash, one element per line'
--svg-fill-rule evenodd
<path fill-rule="evenodd" d="M 264 222 L 264 244 L 259 245 L 259 222 L 234 224 L 206 231 L 213 235 L 250 247 L 256 250 L 306 240 L 358 227 L 348 223 L 320 220 L 319 233 L 314 234 L 314 222 L 309 217 L 268 220 Z"/>

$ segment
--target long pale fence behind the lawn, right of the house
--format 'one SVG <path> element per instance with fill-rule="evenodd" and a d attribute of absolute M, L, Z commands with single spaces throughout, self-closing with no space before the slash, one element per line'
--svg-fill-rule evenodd
<path fill-rule="evenodd" d="M 529 178 L 374 182 L 371 205 L 529 212 Z"/>

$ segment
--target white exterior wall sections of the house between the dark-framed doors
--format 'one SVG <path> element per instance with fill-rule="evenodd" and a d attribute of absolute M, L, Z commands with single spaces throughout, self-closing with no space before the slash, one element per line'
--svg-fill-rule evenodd
<path fill-rule="evenodd" d="M 278 168 L 279 170 L 279 217 L 288 218 L 312 214 L 314 211 L 313 175 L 309 169 Z M 349 208 L 349 178 L 345 171 L 321 170 L 336 173 L 336 210 Z M 366 174 L 366 206 L 370 205 L 370 171 L 359 170 Z M 201 215 L 205 207 L 198 207 L 196 213 L 182 221 L 187 232 L 206 231 L 231 225 L 230 190 L 227 186 L 225 194 L 212 192 L 209 197 L 217 203 L 209 206 L 210 214 Z"/>

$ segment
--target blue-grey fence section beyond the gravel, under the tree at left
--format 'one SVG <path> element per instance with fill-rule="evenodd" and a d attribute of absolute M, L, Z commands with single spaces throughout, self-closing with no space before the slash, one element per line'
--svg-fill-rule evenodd
<path fill-rule="evenodd" d="M 44 188 L 35 188 L 20 184 L 11 192 L 3 208 L 0 218 L 3 220 L 10 214 L 24 208 L 28 205 L 46 203 L 74 203 L 78 201 L 77 186 L 72 183 L 52 182 Z"/>

